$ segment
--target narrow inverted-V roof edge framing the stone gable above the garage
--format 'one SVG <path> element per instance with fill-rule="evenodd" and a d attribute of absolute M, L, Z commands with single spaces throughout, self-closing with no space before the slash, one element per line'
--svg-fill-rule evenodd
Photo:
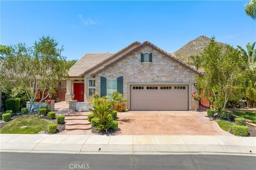
<path fill-rule="evenodd" d="M 197 74 L 199 74 L 199 75 L 202 75 L 201 72 L 198 72 L 198 71 L 195 70 L 193 67 L 191 67 L 191 66 L 187 65 L 186 63 L 180 61 L 177 57 L 175 57 L 175 55 L 174 55 L 173 53 L 167 53 L 167 52 L 165 52 L 163 49 L 157 47 L 156 45 L 150 43 L 149 41 L 145 41 L 145 42 L 141 43 L 140 45 L 138 45 L 138 46 L 132 48 L 129 52 L 127 52 L 127 53 L 123 54 L 122 56 L 116 58 L 116 60 L 110 62 L 109 64 L 106 64 L 106 65 L 103 66 L 103 67 L 101 67 L 101 69 L 99 69 L 99 70 L 95 71 L 94 73 L 92 73 L 92 74 L 91 74 L 91 77 L 93 77 L 94 75 L 96 75 L 96 74 L 100 73 L 101 71 L 107 69 L 109 66 L 111 66 L 111 65 L 113 65 L 113 64 L 115 64 L 115 63 L 117 63 L 119 60 L 123 59 L 123 58 L 126 57 L 127 55 L 129 55 L 129 54 L 135 52 L 135 50 L 138 50 L 139 48 L 141 48 L 141 47 L 143 47 L 143 46 L 145 46 L 145 45 L 148 45 L 148 46 L 151 46 L 152 48 L 155 48 L 155 49 L 158 50 L 159 52 L 161 52 L 161 53 L 165 54 L 166 56 L 172 58 L 173 60 L 175 60 L 175 61 L 177 61 L 178 63 L 180 63 L 181 65 L 187 67 L 187 68 L 190 69 L 191 71 L 194 71 L 195 73 L 197 73 Z"/>

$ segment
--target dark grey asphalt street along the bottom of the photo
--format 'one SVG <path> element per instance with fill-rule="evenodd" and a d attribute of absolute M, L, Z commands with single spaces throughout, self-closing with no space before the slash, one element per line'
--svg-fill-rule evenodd
<path fill-rule="evenodd" d="M 0 152 L 1 169 L 255 169 L 256 157 Z"/>

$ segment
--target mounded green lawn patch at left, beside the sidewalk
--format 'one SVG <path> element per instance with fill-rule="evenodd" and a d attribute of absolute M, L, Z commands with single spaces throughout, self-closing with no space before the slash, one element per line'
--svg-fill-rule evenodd
<path fill-rule="evenodd" d="M 44 118 L 39 118 L 36 115 L 23 115 L 8 122 L 1 129 L 0 133 L 36 134 L 47 130 L 47 125 L 50 123 L 52 122 Z"/>

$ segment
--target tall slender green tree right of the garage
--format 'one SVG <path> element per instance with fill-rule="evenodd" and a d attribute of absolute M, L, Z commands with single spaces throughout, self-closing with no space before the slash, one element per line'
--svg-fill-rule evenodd
<path fill-rule="evenodd" d="M 230 98 L 243 98 L 244 60 L 237 49 L 229 45 L 218 45 L 214 38 L 201 57 L 205 74 L 202 77 L 197 76 L 197 89 L 202 89 L 203 96 L 212 94 L 214 109 L 221 115 Z"/>

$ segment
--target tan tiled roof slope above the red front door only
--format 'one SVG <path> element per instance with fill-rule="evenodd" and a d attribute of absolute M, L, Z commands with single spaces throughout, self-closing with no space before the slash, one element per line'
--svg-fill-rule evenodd
<path fill-rule="evenodd" d="M 81 77 L 85 71 L 106 60 L 115 53 L 86 53 L 68 72 L 69 77 Z"/>

